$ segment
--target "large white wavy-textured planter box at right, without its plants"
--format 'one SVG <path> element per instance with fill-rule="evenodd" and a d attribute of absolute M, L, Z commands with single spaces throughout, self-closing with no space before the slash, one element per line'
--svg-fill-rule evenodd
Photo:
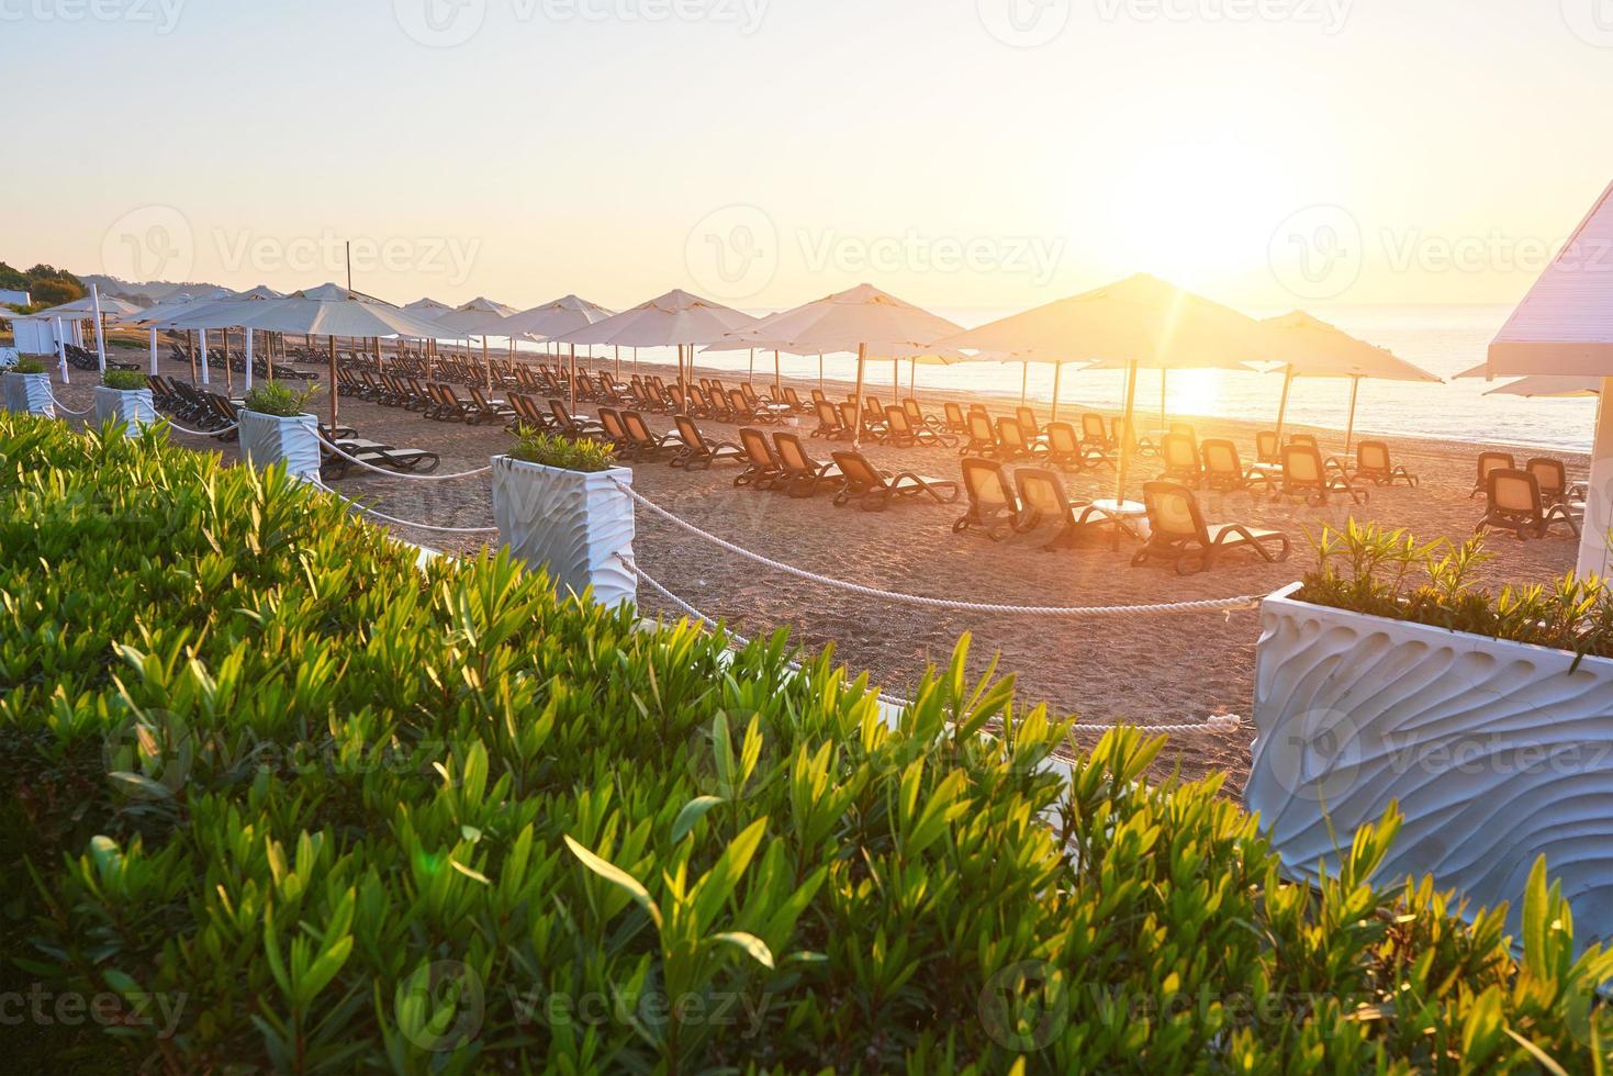
<path fill-rule="evenodd" d="M 1379 879 L 1432 874 L 1471 910 L 1510 902 L 1536 857 L 1582 944 L 1613 936 L 1613 660 L 1347 613 L 1261 607 L 1244 797 L 1287 868 L 1405 815 Z M 1331 824 L 1331 831 L 1329 831 Z M 1336 876 L 1336 874 L 1334 874 Z"/>

